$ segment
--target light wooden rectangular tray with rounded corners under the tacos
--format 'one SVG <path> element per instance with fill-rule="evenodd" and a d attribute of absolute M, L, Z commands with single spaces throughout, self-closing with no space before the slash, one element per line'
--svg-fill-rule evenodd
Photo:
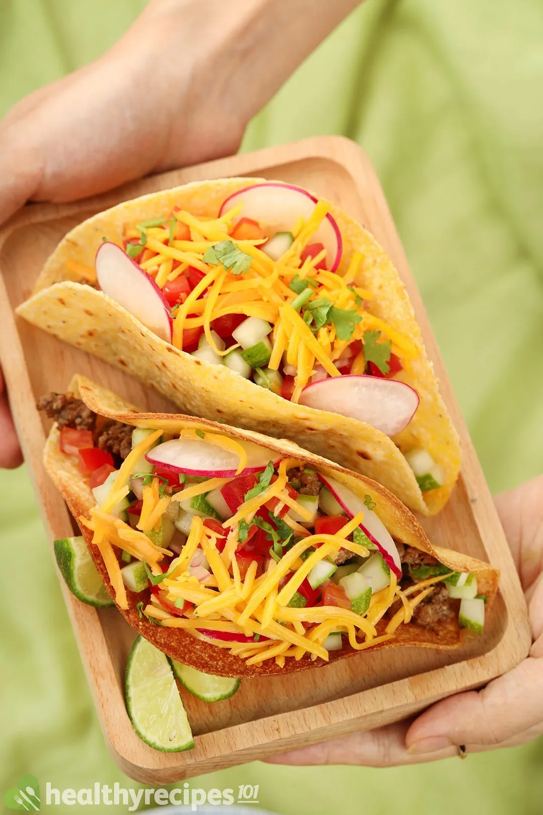
<path fill-rule="evenodd" d="M 423 526 L 435 544 L 469 552 L 500 568 L 501 592 L 488 615 L 484 637 L 460 650 L 402 648 L 361 654 L 285 678 L 244 680 L 234 697 L 214 704 L 183 691 L 195 749 L 161 753 L 140 741 L 125 711 L 125 662 L 134 631 L 115 609 L 97 611 L 77 601 L 59 578 L 112 756 L 124 773 L 155 785 L 400 720 L 510 670 L 528 654 L 531 641 L 515 566 L 383 191 L 367 156 L 339 137 L 307 139 L 176 170 L 76 204 L 29 205 L 0 232 L 0 356 L 50 542 L 71 535 L 74 523 L 42 467 L 47 428 L 35 408 L 37 396 L 63 391 L 78 372 L 144 409 L 173 406 L 116 368 L 15 320 L 13 308 L 28 297 L 60 238 L 84 218 L 145 192 L 234 175 L 279 178 L 321 193 L 364 223 L 392 257 L 409 289 L 441 392 L 462 439 L 464 463 L 458 486 L 444 511 L 437 518 L 423 519 Z"/>

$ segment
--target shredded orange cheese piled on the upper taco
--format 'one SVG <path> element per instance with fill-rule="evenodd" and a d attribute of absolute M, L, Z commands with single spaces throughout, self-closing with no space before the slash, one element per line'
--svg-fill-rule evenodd
<path fill-rule="evenodd" d="M 329 205 L 319 201 L 307 221 L 300 219 L 293 233 L 294 243 L 278 261 L 269 258 L 260 248 L 265 240 L 235 240 L 230 236 L 234 229 L 233 218 L 239 215 L 241 208 L 242 205 L 239 205 L 214 220 L 203 220 L 185 211 L 174 211 L 173 216 L 189 228 L 191 240 L 170 241 L 169 229 L 147 228 L 147 241 L 140 262 L 161 289 L 188 267 L 194 267 L 204 274 L 195 288 L 187 296 L 183 295 L 185 299 L 177 308 L 173 324 L 174 346 L 182 350 L 183 331 L 202 327 L 209 345 L 218 355 L 223 356 L 230 349 L 222 351 L 217 348 L 211 333 L 214 319 L 232 314 L 264 319 L 273 327 L 273 350 L 269 368 L 278 370 L 283 359 L 297 368 L 293 402 L 300 398 L 301 391 L 313 376 L 317 365 L 322 365 L 331 377 L 340 376 L 335 362 L 349 343 L 362 340 L 368 329 L 378 329 L 382 332 L 383 339 L 388 337 L 392 341 L 392 350 L 401 359 L 414 359 L 418 355 L 417 347 L 409 337 L 370 314 L 363 304 L 357 305 L 357 302 L 370 301 L 373 297 L 370 292 L 357 285 L 358 271 L 363 260 L 359 251 L 353 253 L 352 261 L 343 276 L 316 268 L 326 256 L 326 250 L 322 250 L 314 258 L 301 261 L 301 254 L 309 245 L 322 219 L 326 217 Z M 126 239 L 139 236 L 138 230 L 125 229 Z M 204 262 L 206 250 L 221 240 L 232 240 L 252 258 L 248 271 L 234 275 L 220 263 L 213 266 Z M 177 266 L 174 267 L 175 264 Z M 289 288 L 289 284 L 295 275 L 299 275 L 301 280 L 307 280 L 313 287 L 309 302 L 326 297 L 335 307 L 354 310 L 361 315 L 361 322 L 355 326 L 349 340 L 340 340 L 336 336 L 334 324 L 322 326 L 316 337 L 300 314 L 291 308 L 290 304 L 297 295 Z M 352 372 L 362 373 L 364 366 L 361 351 Z"/>

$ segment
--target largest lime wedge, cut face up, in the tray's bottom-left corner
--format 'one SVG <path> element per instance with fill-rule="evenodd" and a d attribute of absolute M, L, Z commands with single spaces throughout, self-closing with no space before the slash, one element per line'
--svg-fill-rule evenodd
<path fill-rule="evenodd" d="M 168 657 L 143 637 L 129 653 L 125 697 L 134 730 L 149 747 L 177 753 L 195 746 Z"/>

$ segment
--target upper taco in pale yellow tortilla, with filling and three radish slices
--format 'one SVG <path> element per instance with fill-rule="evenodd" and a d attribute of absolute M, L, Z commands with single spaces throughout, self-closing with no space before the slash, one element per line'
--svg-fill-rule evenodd
<path fill-rule="evenodd" d="M 438 512 L 458 436 L 396 270 L 338 207 L 235 178 L 73 229 L 18 309 L 184 412 L 337 460 Z"/>

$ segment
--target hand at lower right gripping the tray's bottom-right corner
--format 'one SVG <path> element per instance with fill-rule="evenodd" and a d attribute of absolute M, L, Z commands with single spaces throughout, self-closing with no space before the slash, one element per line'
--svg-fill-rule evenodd
<path fill-rule="evenodd" d="M 495 501 L 528 602 L 527 659 L 480 691 L 444 699 L 415 720 L 271 756 L 275 764 L 390 767 L 515 747 L 543 734 L 543 476 Z"/>

